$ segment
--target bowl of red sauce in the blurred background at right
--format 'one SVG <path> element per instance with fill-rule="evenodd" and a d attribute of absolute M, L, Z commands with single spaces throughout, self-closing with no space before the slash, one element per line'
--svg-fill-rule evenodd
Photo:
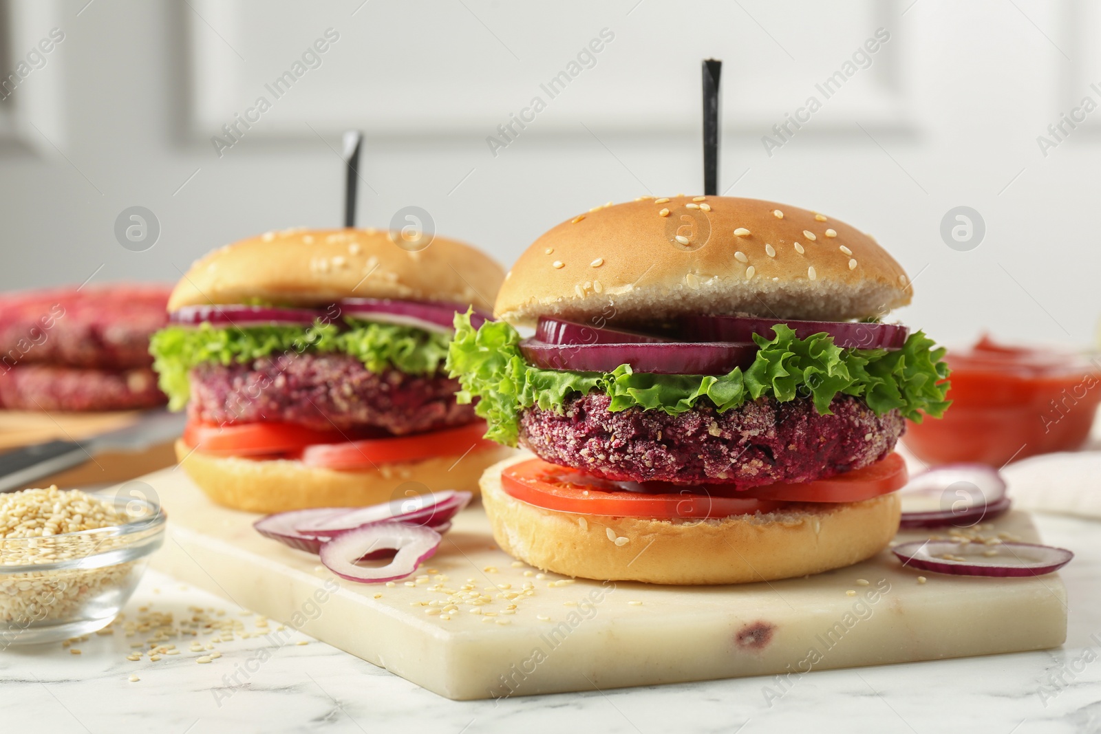
<path fill-rule="evenodd" d="M 1101 355 L 982 337 L 949 350 L 944 418 L 911 423 L 903 442 L 931 464 L 1010 461 L 1081 448 L 1101 403 Z"/>

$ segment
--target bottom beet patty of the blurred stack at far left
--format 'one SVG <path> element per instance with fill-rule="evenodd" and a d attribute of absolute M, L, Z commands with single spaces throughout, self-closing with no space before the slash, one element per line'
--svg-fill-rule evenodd
<path fill-rule="evenodd" d="M 132 410 L 163 405 L 156 373 L 20 364 L 0 369 L 0 406 L 11 410 Z"/>

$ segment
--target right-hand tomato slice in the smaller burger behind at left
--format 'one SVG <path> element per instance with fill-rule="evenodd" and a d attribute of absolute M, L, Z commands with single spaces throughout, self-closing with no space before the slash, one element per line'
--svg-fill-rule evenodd
<path fill-rule="evenodd" d="M 495 446 L 493 441 L 482 438 L 484 432 L 486 421 L 477 420 L 466 426 L 416 436 L 307 446 L 302 451 L 302 460 L 310 467 L 348 471 L 370 469 L 379 463 L 460 456 Z"/>

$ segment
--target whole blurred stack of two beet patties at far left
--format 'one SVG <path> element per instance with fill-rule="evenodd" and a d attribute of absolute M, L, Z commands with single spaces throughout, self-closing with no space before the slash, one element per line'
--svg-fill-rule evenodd
<path fill-rule="evenodd" d="M 0 295 L 0 407 L 126 410 L 166 398 L 149 337 L 171 288 L 110 284 Z"/>

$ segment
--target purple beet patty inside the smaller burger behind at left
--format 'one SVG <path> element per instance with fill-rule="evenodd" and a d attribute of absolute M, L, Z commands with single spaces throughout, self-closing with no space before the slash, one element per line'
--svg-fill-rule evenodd
<path fill-rule="evenodd" d="M 287 421 L 331 430 L 377 427 L 415 434 L 475 419 L 459 382 L 399 370 L 370 372 L 348 354 L 304 353 L 251 364 L 200 364 L 187 412 L 205 423 Z"/>

